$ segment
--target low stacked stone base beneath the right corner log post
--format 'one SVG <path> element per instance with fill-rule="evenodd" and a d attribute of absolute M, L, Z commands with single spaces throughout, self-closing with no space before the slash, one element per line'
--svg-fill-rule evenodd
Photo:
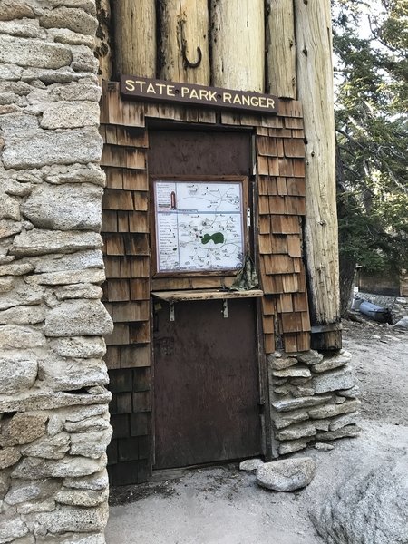
<path fill-rule="evenodd" d="M 344 350 L 322 355 L 268 355 L 269 397 L 277 453 L 303 450 L 310 443 L 354 437 L 360 401 Z"/>

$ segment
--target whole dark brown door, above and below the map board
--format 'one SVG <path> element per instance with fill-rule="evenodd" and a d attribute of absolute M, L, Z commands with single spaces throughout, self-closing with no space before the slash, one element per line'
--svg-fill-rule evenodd
<path fill-rule="evenodd" d="M 250 143 L 248 132 L 150 129 L 149 171 L 156 177 L 248 177 Z M 169 305 L 160 306 L 154 325 L 155 468 L 259 454 L 255 300 L 229 300 L 228 318 L 222 300 L 175 303 L 174 321 Z"/>

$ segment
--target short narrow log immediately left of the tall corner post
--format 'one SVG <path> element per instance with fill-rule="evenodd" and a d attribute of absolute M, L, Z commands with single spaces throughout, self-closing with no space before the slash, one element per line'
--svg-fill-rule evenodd
<path fill-rule="evenodd" d="M 293 0 L 267 0 L 267 92 L 296 99 Z"/>

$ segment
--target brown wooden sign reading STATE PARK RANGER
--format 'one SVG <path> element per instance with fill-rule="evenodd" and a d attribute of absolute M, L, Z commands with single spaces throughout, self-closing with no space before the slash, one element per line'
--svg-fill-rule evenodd
<path fill-rule="evenodd" d="M 134 100 L 277 114 L 277 97 L 260 92 L 233 91 L 192 83 L 173 83 L 134 75 L 121 75 L 121 96 Z"/>

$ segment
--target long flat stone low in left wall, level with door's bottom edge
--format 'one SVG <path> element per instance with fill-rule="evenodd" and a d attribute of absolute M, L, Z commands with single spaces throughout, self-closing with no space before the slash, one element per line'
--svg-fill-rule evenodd
<path fill-rule="evenodd" d="M 89 476 L 94 472 L 102 471 L 106 466 L 106 461 L 106 455 L 102 455 L 100 459 L 67 455 L 59 461 L 44 461 L 44 459 L 35 457 L 25 457 L 12 472 L 12 477 L 24 478 L 25 480 L 79 478 L 80 476 Z"/>

